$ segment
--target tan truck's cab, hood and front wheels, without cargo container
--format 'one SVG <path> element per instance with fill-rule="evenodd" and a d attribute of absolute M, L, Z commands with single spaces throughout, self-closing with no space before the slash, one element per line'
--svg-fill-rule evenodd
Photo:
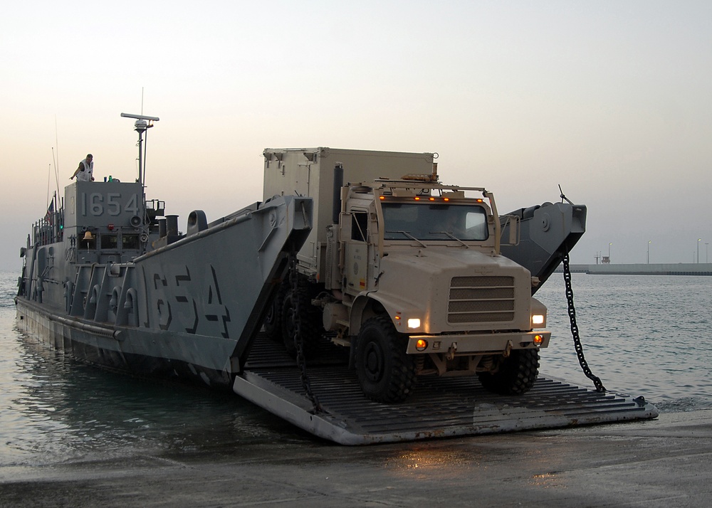
<path fill-rule="evenodd" d="M 492 194 L 381 180 L 345 188 L 342 203 L 341 268 L 326 287 L 342 298 L 325 305 L 342 319 L 324 324 L 348 337 L 341 343 L 365 393 L 399 401 L 426 374 L 478 375 L 494 391 L 527 391 L 550 338 L 546 309 L 530 297 L 530 272 L 499 253 Z"/>

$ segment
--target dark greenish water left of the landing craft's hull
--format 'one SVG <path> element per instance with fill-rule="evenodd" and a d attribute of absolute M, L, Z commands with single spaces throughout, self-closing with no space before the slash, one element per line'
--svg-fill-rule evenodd
<path fill-rule="evenodd" d="M 167 451 L 231 453 L 300 430 L 231 392 L 80 364 L 14 327 L 0 306 L 0 466 Z"/>

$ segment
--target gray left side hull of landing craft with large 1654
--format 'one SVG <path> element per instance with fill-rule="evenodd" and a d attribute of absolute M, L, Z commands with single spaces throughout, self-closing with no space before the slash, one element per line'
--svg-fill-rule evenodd
<path fill-rule="evenodd" d="M 28 248 L 19 327 L 90 364 L 229 387 L 310 206 L 287 196 L 248 207 L 129 263 L 59 263 L 63 243 Z"/>

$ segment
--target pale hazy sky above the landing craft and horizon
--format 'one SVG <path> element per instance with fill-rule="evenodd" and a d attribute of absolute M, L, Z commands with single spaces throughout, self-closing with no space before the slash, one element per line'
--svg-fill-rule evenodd
<path fill-rule="evenodd" d="M 23 1 L 0 17 L 0 268 L 91 152 L 208 220 L 262 196 L 266 147 L 438 152 L 501 212 L 588 206 L 573 263 L 705 262 L 712 2 Z M 62 190 L 63 192 L 63 190 Z M 701 238 L 698 241 L 698 238 Z M 648 243 L 648 242 L 651 243 Z M 612 244 L 612 245 L 609 245 Z M 712 253 L 709 253 L 712 255 Z"/>

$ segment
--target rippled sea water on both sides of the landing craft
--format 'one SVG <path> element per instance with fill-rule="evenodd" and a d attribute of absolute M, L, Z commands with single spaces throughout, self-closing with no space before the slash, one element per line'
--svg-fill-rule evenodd
<path fill-rule="evenodd" d="M 15 327 L 17 274 L 0 272 L 0 466 L 140 450 L 234 450 L 314 440 L 229 393 L 141 381 L 85 366 Z M 712 277 L 573 275 L 593 374 L 661 411 L 712 408 Z M 578 365 L 561 274 L 539 290 L 553 337 L 540 372 L 592 388 Z"/>

